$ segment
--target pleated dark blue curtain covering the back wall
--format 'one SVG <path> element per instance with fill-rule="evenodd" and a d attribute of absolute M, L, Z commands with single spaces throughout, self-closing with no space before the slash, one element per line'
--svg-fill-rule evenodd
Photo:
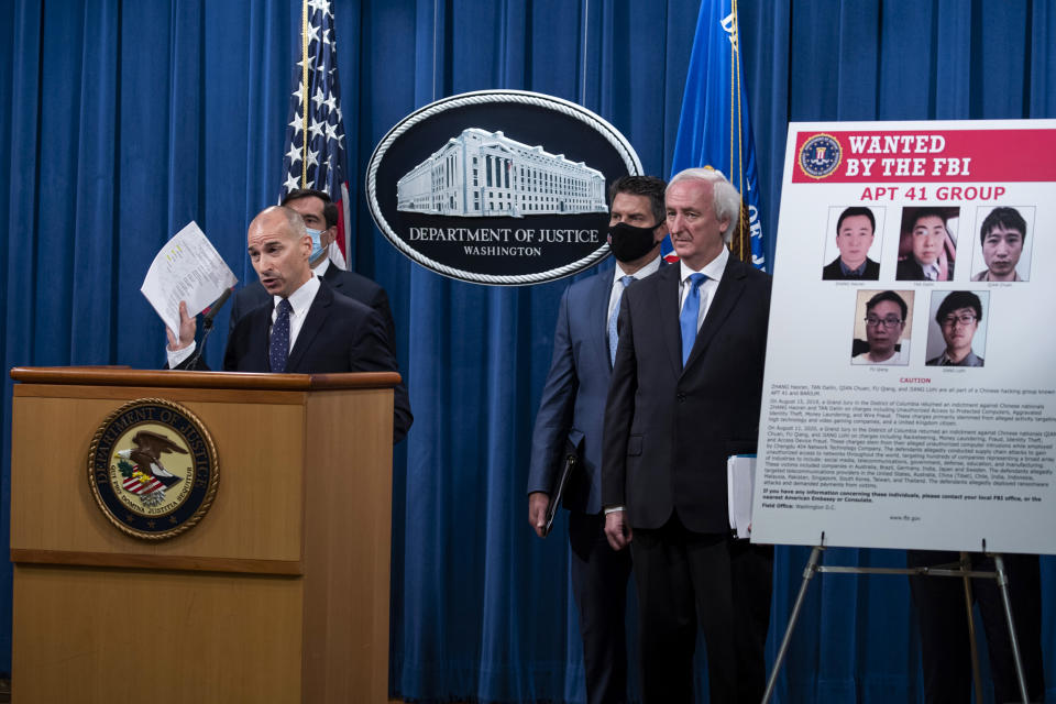
<path fill-rule="evenodd" d="M 629 138 L 646 172 L 668 175 L 698 6 L 337 0 L 358 194 L 351 258 L 389 293 L 416 417 L 394 471 L 396 695 L 584 701 L 565 526 L 535 538 L 524 494 L 565 283 L 494 289 L 413 265 L 373 227 L 359 195 L 365 163 L 389 127 L 433 99 L 518 88 L 597 111 Z M 1056 117 L 1052 0 L 741 0 L 739 9 L 767 233 L 777 229 L 790 120 Z M 4 370 L 161 365 L 162 327 L 139 287 L 188 220 L 241 280 L 253 279 L 244 233 L 278 193 L 298 12 L 296 0 L 0 1 Z M 771 239 L 767 258 L 780 267 L 772 255 Z M 208 345 L 211 364 L 224 332 Z M 0 544 L 9 530 L 7 378 L 3 393 Z M 79 469 L 70 481 L 81 481 Z M 771 657 L 806 556 L 778 550 Z M 893 566 L 903 554 L 833 550 L 827 560 Z M 1050 558 L 1043 580 L 1052 697 Z M 10 604 L 3 562 L 0 671 L 10 671 Z M 778 701 L 919 701 L 917 642 L 903 579 L 821 578 Z"/>

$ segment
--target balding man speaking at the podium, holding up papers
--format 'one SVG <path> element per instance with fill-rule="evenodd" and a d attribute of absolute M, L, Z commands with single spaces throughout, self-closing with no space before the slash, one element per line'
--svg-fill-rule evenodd
<path fill-rule="evenodd" d="M 309 266 L 312 244 L 295 210 L 274 206 L 250 223 L 250 260 L 271 299 L 246 312 L 228 332 L 227 372 L 327 374 L 394 372 L 396 360 L 385 324 L 376 311 L 334 295 Z M 166 329 L 170 369 L 204 370 L 193 356 L 195 318 L 179 305 L 179 334 Z M 413 417 L 407 392 L 394 389 L 394 437 L 398 441 Z"/>

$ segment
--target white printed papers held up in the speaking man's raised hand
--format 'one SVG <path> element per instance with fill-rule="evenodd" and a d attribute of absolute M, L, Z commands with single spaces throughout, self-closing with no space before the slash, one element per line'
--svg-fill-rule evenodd
<path fill-rule="evenodd" d="M 188 222 L 173 235 L 151 263 L 140 290 L 165 326 L 179 331 L 179 301 L 197 316 L 238 279 L 198 223 Z"/>

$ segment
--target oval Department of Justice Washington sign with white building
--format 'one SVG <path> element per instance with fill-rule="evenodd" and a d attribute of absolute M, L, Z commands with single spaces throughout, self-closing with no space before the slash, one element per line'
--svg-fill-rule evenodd
<path fill-rule="evenodd" d="M 641 163 L 582 106 L 522 90 L 438 100 L 382 139 L 366 173 L 388 241 L 438 274 L 517 286 L 608 255 L 608 186 Z"/>

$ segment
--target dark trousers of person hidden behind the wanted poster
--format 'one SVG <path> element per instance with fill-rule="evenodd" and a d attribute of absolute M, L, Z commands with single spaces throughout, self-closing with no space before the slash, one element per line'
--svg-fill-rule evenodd
<path fill-rule="evenodd" d="M 970 553 L 970 558 L 974 570 L 993 571 L 992 558 L 978 552 Z M 1032 702 L 1042 702 L 1045 698 L 1045 676 L 1042 663 L 1041 565 L 1036 554 L 1007 554 L 1003 558 L 1026 690 Z M 906 552 L 906 564 L 911 568 L 936 566 L 959 559 L 956 552 Z M 928 704 L 971 702 L 971 649 L 964 581 L 948 576 L 911 576 L 910 591 L 921 628 L 925 700 Z M 998 583 L 994 580 L 974 579 L 971 592 L 987 636 L 994 701 L 999 704 L 1022 702 Z"/>

